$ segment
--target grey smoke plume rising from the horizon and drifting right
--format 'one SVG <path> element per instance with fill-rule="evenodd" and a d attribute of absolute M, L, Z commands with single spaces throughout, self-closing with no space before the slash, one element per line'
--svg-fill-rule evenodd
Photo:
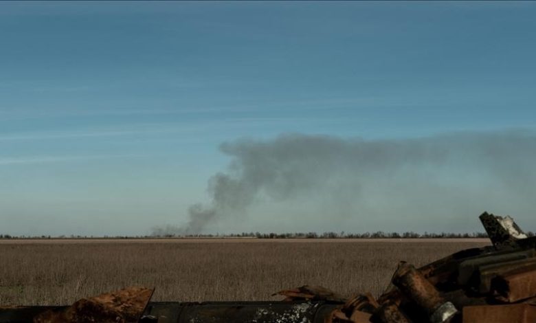
<path fill-rule="evenodd" d="M 155 234 L 198 234 L 212 223 L 254 219 L 260 211 L 252 209 L 269 203 L 316 223 L 359 219 L 366 230 L 437 230 L 434 223 L 483 210 L 528 217 L 536 192 L 536 135 L 530 131 L 404 140 L 286 134 L 225 143 L 221 151 L 232 161 L 210 179 L 211 203 L 192 205 L 186 225 Z M 438 221 L 444 216 L 449 221 Z M 445 230 L 467 229 L 458 225 Z"/>

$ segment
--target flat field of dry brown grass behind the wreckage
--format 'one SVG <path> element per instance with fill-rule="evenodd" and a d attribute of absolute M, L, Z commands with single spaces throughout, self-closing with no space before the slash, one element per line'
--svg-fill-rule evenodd
<path fill-rule="evenodd" d="M 322 285 L 378 295 L 399 260 L 425 265 L 487 239 L 0 241 L 0 305 L 69 304 L 131 285 L 153 300 L 274 300 Z"/>

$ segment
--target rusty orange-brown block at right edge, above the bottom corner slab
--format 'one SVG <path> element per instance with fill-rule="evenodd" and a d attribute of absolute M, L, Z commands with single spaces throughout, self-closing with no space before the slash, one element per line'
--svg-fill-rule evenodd
<path fill-rule="evenodd" d="M 491 289 L 499 294 L 498 299 L 505 302 L 517 302 L 536 296 L 536 265 L 515 269 L 493 278 Z"/>

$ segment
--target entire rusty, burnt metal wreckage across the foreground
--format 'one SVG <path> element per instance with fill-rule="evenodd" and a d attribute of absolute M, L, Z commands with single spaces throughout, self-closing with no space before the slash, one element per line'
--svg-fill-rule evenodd
<path fill-rule="evenodd" d="M 0 323 L 536 322 L 536 237 L 509 216 L 484 213 L 480 221 L 493 246 L 421 268 L 401 262 L 377 299 L 304 286 L 280 291 L 281 302 L 150 302 L 152 289 L 132 287 L 70 307 L 0 307 Z"/>

